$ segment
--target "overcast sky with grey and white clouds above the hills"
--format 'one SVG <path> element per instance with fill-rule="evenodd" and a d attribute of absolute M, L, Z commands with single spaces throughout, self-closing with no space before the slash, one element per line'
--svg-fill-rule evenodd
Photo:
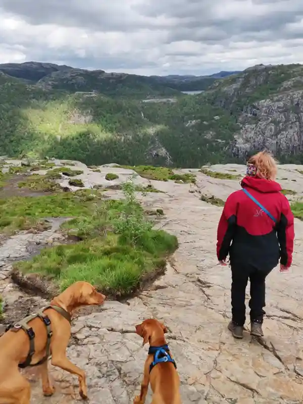
<path fill-rule="evenodd" d="M 0 63 L 210 74 L 303 63 L 303 0 L 0 0 Z"/>

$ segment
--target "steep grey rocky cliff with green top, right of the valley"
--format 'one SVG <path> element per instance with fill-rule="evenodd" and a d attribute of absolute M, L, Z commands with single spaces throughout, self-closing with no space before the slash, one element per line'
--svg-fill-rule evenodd
<path fill-rule="evenodd" d="M 230 112 L 239 124 L 231 145 L 243 158 L 267 148 L 282 160 L 303 156 L 303 66 L 255 66 L 215 83 L 212 104 Z"/>

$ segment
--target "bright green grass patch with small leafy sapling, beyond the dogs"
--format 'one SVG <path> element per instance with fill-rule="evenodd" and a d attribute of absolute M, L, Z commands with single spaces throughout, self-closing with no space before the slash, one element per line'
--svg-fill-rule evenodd
<path fill-rule="evenodd" d="M 119 201 L 101 200 L 96 194 L 89 197 L 87 192 L 75 198 L 54 197 L 57 206 L 65 201 L 66 216 L 78 210 L 78 217 L 63 228 L 81 241 L 44 248 L 32 260 L 15 263 L 15 271 L 47 277 L 61 290 L 86 280 L 106 294 L 123 296 L 134 291 L 144 276 L 163 269 L 166 256 L 178 247 L 177 238 L 153 229 L 134 198 L 133 185 L 127 186 L 125 199 Z"/>

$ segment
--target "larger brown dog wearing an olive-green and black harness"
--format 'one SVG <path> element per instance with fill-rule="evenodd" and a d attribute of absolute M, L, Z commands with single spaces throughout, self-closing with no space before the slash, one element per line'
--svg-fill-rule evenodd
<path fill-rule="evenodd" d="M 87 398 L 85 373 L 66 357 L 71 335 L 71 314 L 85 305 L 102 305 L 106 296 L 87 282 L 76 282 L 51 301 L 51 306 L 10 328 L 0 338 L 0 404 L 30 404 L 30 384 L 19 367 L 41 364 L 42 390 L 52 395 L 47 357 L 52 365 L 78 376 L 79 393 Z M 32 342 L 33 341 L 33 342 Z M 32 354 L 32 355 L 30 355 Z"/>

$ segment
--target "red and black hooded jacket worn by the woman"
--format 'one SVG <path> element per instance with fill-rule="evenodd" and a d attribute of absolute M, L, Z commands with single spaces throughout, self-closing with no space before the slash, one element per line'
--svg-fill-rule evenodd
<path fill-rule="evenodd" d="M 251 264 L 261 269 L 292 262 L 293 214 L 287 198 L 275 181 L 244 177 L 242 188 L 254 196 L 277 220 L 275 223 L 242 190 L 226 200 L 217 232 L 217 257 L 230 263 Z"/>

